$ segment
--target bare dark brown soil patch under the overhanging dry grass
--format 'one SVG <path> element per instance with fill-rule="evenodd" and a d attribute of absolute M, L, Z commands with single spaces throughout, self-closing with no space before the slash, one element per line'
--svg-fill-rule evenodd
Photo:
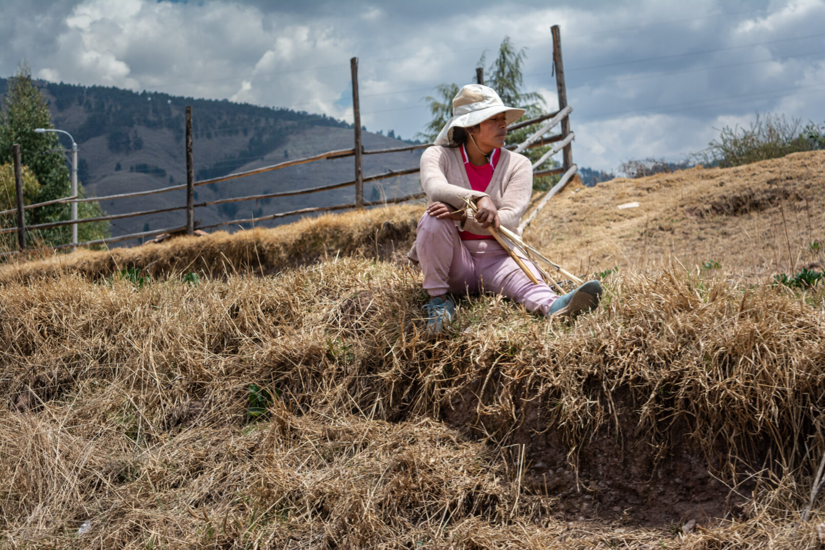
<path fill-rule="evenodd" d="M 524 419 L 518 425 L 512 418 L 479 425 L 478 386 L 452 398 L 442 408 L 442 420 L 474 439 L 509 430 L 507 444 L 524 449 L 523 455 L 515 450 L 508 457 L 511 468 L 517 471 L 521 463 L 524 487 L 559 499 L 556 519 L 661 527 L 742 517 L 752 484 L 744 481 L 731 491 L 712 473 L 714 464 L 684 425 L 670 426 L 662 441 L 653 442 L 636 427 L 638 416 L 625 411 L 618 416 L 619 430 L 599 430 L 581 449 L 572 449 L 559 427 L 543 420 L 538 401 L 515 411 Z"/>

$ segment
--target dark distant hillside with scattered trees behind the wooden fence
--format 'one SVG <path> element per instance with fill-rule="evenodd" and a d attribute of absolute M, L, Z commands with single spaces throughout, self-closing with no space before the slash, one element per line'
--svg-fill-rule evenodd
<path fill-rule="evenodd" d="M 7 79 L 0 79 L 5 92 Z M 186 181 L 185 110 L 192 106 L 196 180 L 274 164 L 289 158 L 350 148 L 352 127 L 342 120 L 305 111 L 272 109 L 230 101 L 194 99 L 156 92 L 130 92 L 115 87 L 83 87 L 38 82 L 49 101 L 55 128 L 78 142 L 78 176 L 88 195 L 149 190 Z M 2 95 L 0 95 L 2 97 Z M 364 146 L 390 148 L 403 142 L 380 134 L 364 134 Z M 364 157 L 365 175 L 415 167 L 421 152 Z M 352 157 L 314 162 L 260 176 L 200 186 L 196 201 L 321 186 L 354 178 Z M 394 197 L 415 190 L 417 176 L 367 184 L 365 197 Z M 230 219 L 275 214 L 291 209 L 351 202 L 353 188 L 283 200 L 228 203 L 196 209 L 202 225 Z M 103 201 L 108 214 L 161 209 L 185 203 L 182 191 Z M 181 225 L 181 211 L 115 220 L 112 234 Z M 289 221 L 289 220 L 287 220 Z M 265 223 L 276 225 L 282 223 Z"/>

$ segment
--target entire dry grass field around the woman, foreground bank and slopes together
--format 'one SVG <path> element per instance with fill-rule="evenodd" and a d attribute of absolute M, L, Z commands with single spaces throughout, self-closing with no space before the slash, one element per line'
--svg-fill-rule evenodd
<path fill-rule="evenodd" d="M 768 283 L 823 261 L 823 164 L 565 191 L 527 239 L 620 265 L 572 324 L 428 338 L 420 207 L 3 266 L 0 546 L 821 548 L 825 291 Z"/>

